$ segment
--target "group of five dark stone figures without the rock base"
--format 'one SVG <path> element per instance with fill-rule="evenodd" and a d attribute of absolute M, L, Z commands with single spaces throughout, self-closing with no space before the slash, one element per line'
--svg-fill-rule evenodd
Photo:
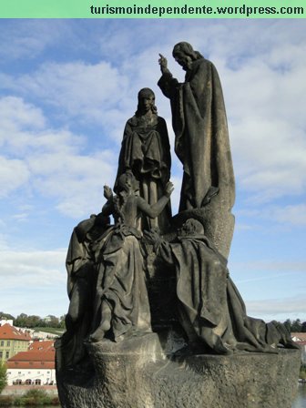
<path fill-rule="evenodd" d="M 283 325 L 247 315 L 230 279 L 235 182 L 218 72 L 186 42 L 174 46 L 173 57 L 185 81 L 160 55 L 158 87 L 170 101 L 183 165 L 179 213 L 172 217 L 166 121 L 146 87 L 124 128 L 114 192 L 105 186 L 101 212 L 72 233 L 58 372 L 89 370 L 90 344 L 103 351 L 161 331 L 180 339 L 172 358 L 296 348 Z"/>

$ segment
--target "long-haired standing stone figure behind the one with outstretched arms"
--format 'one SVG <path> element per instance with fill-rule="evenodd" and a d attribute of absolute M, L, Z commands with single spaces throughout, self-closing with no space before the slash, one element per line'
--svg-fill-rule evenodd
<path fill-rule="evenodd" d="M 149 205 L 155 204 L 163 195 L 170 179 L 170 147 L 168 130 L 163 117 L 158 117 L 154 92 L 143 88 L 138 92 L 138 109 L 128 119 L 119 156 L 118 177 L 131 170 L 139 182 L 139 195 Z M 115 190 L 117 181 L 115 183 Z M 155 219 L 143 216 L 138 230 L 159 228 L 165 230 L 171 218 L 171 206 L 166 208 Z"/>

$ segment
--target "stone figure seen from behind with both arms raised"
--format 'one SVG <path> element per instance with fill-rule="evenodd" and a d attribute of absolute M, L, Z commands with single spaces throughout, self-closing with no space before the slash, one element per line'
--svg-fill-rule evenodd
<path fill-rule="evenodd" d="M 151 331 L 148 292 L 137 230 L 138 218 L 156 218 L 165 208 L 173 190 L 166 191 L 154 205 L 138 196 L 138 181 L 132 172 L 117 179 L 117 196 L 105 187 L 104 216 L 112 214 L 115 225 L 93 245 L 97 264 L 97 292 L 94 304 L 94 332 L 89 339 L 108 338 L 118 342 L 138 331 Z"/>

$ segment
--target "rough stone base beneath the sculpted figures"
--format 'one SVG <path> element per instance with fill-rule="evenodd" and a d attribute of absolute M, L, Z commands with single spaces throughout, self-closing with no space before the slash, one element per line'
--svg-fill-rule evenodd
<path fill-rule="evenodd" d="M 56 372 L 62 408 L 291 408 L 298 350 L 173 357 L 174 344 L 156 333 L 87 344 L 92 370 Z"/>

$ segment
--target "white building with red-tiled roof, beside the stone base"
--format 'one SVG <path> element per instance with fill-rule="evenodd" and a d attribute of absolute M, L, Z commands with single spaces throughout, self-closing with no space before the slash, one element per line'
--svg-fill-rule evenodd
<path fill-rule="evenodd" d="M 18 352 L 6 362 L 8 385 L 54 385 L 56 383 L 54 342 L 33 342 L 27 352 Z"/>

